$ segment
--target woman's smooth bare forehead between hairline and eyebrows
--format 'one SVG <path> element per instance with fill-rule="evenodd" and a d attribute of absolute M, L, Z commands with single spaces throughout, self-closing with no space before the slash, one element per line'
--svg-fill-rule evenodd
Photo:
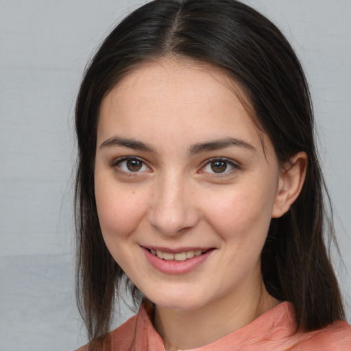
<path fill-rule="evenodd" d="M 233 136 L 262 149 L 251 110 L 243 90 L 213 66 L 191 60 L 147 62 L 104 98 L 98 139 L 113 132 L 148 143 L 162 136 L 169 143 Z"/>

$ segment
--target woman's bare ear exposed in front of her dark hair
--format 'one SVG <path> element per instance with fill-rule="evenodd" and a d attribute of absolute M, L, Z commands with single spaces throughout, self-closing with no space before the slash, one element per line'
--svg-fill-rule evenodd
<path fill-rule="evenodd" d="M 300 195 L 306 176 L 307 162 L 306 152 L 298 152 L 290 162 L 281 167 L 272 218 L 278 218 L 287 213 Z"/>

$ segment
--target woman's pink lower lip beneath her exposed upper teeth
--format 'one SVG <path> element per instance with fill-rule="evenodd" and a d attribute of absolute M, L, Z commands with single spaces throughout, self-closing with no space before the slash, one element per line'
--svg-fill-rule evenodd
<path fill-rule="evenodd" d="M 188 258 L 186 261 L 167 261 L 149 252 L 149 250 L 142 247 L 143 252 L 146 256 L 149 264 L 152 265 L 158 271 L 165 274 L 185 274 L 192 271 L 196 267 L 199 267 L 206 259 L 210 256 L 213 250 L 208 250 L 200 256 L 194 256 L 193 258 Z"/>

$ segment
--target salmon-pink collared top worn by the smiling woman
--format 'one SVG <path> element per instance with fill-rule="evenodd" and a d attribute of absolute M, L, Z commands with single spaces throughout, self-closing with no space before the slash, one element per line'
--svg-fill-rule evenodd
<path fill-rule="evenodd" d="M 344 321 L 313 332 L 295 333 L 295 326 L 293 305 L 282 302 L 247 326 L 191 351 L 351 351 L 351 326 Z M 88 346 L 76 351 L 88 351 Z M 165 351 L 145 304 L 110 333 L 110 351 Z"/>

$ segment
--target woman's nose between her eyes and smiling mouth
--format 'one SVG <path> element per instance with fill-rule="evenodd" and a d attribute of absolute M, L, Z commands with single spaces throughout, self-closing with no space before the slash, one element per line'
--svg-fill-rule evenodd
<path fill-rule="evenodd" d="M 165 176 L 154 187 L 149 220 L 154 228 L 168 236 L 179 235 L 199 221 L 191 184 L 184 175 Z"/>

